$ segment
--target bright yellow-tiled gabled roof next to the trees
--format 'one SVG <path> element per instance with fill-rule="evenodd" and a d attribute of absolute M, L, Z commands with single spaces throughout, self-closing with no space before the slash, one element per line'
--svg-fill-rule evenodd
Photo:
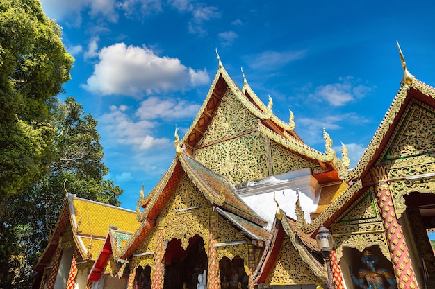
<path fill-rule="evenodd" d="M 74 244 L 84 260 L 95 261 L 104 245 L 110 225 L 123 231 L 134 231 L 138 227 L 136 212 L 122 209 L 67 194 L 67 199 L 58 218 L 54 233 L 49 239 L 35 270 L 43 270 L 51 260 L 60 237 L 67 227 L 72 228 Z"/>

